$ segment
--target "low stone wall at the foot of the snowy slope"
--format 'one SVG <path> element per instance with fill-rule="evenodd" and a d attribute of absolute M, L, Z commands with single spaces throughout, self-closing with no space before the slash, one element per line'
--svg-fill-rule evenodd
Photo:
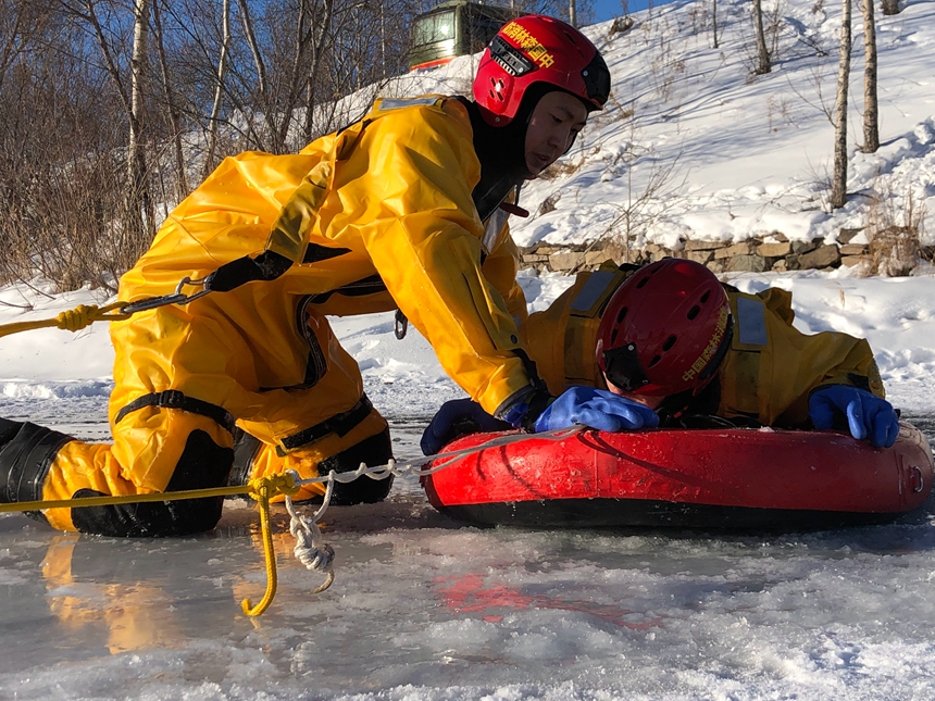
<path fill-rule="evenodd" d="M 537 243 L 520 251 L 523 258 L 522 267 L 566 274 L 594 270 L 608 259 L 618 263 L 652 263 L 666 256 L 697 261 L 714 273 L 822 270 L 842 265 L 869 266 L 871 264 L 870 246 L 850 242 L 860 231 L 861 229 L 842 229 L 837 242 L 830 245 L 824 243 L 823 239 L 789 241 L 783 234 L 774 231 L 765 237 L 765 240 L 751 238 L 739 243 L 686 240 L 682 242 L 681 249 L 648 243 L 639 250 L 626 250 L 619 243 L 606 241 L 590 246 Z M 922 254 L 930 260 L 933 253 L 935 251 L 922 251 Z"/>

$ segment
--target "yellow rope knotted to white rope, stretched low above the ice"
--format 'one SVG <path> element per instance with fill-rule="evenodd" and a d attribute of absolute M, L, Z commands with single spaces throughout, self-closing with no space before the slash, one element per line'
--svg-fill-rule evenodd
<path fill-rule="evenodd" d="M 292 553 L 308 569 L 322 572 L 326 575 L 326 580 L 311 593 L 320 593 L 332 586 L 335 579 L 333 563 L 335 559 L 334 549 L 324 541 L 321 528 L 317 522 L 324 515 L 325 510 L 332 500 L 334 486 L 336 483 L 348 484 L 354 479 L 360 479 L 366 476 L 371 479 L 387 479 L 390 475 L 403 477 L 406 475 L 415 475 L 425 477 L 432 475 L 439 470 L 445 470 L 454 462 L 456 458 L 470 455 L 508 446 L 523 440 L 564 440 L 582 430 L 583 426 L 574 426 L 571 428 L 559 428 L 556 430 L 544 431 L 541 434 L 510 434 L 499 438 L 493 438 L 471 448 L 453 450 L 435 455 L 427 455 L 426 462 L 445 461 L 442 464 L 436 464 L 434 467 L 423 470 L 423 464 L 413 465 L 397 465 L 395 460 L 389 460 L 385 465 L 374 465 L 367 467 L 365 463 L 346 473 L 336 473 L 332 470 L 323 477 L 311 477 L 309 479 L 298 479 L 298 474 L 295 471 L 288 470 L 282 475 L 273 475 L 271 477 L 258 477 L 251 479 L 246 485 L 239 487 L 214 487 L 210 489 L 187 489 L 183 491 L 155 492 L 149 495 L 125 495 L 120 497 L 82 497 L 79 499 L 54 499 L 49 501 L 20 501 L 10 504 L 0 503 L 0 513 L 21 512 L 21 511 L 43 511 L 47 509 L 79 509 L 84 506 L 109 506 L 116 504 L 132 504 L 146 501 L 179 501 L 183 499 L 203 499 L 207 497 L 233 497 L 236 495 L 249 495 L 255 499 L 260 508 L 260 529 L 263 540 L 263 560 L 266 568 L 266 590 L 263 598 L 254 606 L 250 599 L 244 599 L 240 602 L 240 608 L 248 616 L 259 616 L 273 602 L 276 596 L 278 586 L 278 575 L 276 572 L 276 552 L 273 548 L 273 535 L 270 527 L 270 500 L 278 495 L 285 496 L 286 510 L 289 512 L 291 521 L 289 523 L 289 533 L 296 538 L 296 547 Z M 299 513 L 292 503 L 291 496 L 297 493 L 303 485 L 327 484 L 325 497 L 322 506 L 312 515 L 304 516 Z"/>

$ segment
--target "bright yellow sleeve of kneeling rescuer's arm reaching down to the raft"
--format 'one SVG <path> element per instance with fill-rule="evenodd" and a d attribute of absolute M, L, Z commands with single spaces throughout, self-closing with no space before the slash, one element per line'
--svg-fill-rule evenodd
<path fill-rule="evenodd" d="M 464 108 L 451 100 L 450 110 Z M 432 107 L 374 120 L 335 175 L 387 290 L 441 366 L 490 413 L 531 385 L 507 303 L 481 268 L 470 122 Z M 345 178 L 353 186 L 344 187 Z"/>

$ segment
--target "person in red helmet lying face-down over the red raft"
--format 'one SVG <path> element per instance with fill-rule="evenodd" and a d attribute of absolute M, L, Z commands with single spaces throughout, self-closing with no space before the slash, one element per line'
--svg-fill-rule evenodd
<path fill-rule="evenodd" d="M 652 410 L 663 426 L 697 427 L 720 417 L 735 425 L 848 428 L 876 447 L 893 445 L 898 418 L 869 343 L 837 331 L 806 335 L 793 320 L 786 290 L 747 295 L 703 265 L 665 259 L 645 267 L 608 262 L 579 274 L 549 309 L 529 317 L 526 331 L 538 372 L 562 395 L 548 412 L 564 423 L 582 417 L 587 402 L 599 406 L 614 395 L 633 405 L 607 424 L 610 430 L 654 425 Z M 562 402 L 575 392 L 570 411 Z M 583 417 L 579 423 L 594 425 Z M 472 421 L 475 428 L 503 427 L 476 404 L 454 400 L 426 430 L 423 448 L 435 452 L 452 438 L 452 426 Z"/>

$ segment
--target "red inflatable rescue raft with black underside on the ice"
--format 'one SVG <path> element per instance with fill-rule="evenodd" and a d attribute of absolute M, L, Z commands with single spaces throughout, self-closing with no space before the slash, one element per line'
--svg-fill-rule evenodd
<path fill-rule="evenodd" d="M 509 435 L 509 434 L 507 434 Z M 877 450 L 838 431 L 751 428 L 579 430 L 446 448 L 423 477 L 432 504 L 461 521 L 516 526 L 678 526 L 797 530 L 886 523 L 932 488 L 928 442 L 900 424 Z"/>

